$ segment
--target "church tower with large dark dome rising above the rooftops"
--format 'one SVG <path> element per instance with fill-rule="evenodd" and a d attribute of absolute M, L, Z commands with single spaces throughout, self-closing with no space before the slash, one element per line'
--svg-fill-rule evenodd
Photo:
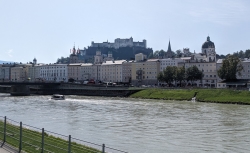
<path fill-rule="evenodd" d="M 201 51 L 207 57 L 207 62 L 216 62 L 216 52 L 215 45 L 210 40 L 210 37 L 207 37 L 207 41 L 202 44 Z"/>

